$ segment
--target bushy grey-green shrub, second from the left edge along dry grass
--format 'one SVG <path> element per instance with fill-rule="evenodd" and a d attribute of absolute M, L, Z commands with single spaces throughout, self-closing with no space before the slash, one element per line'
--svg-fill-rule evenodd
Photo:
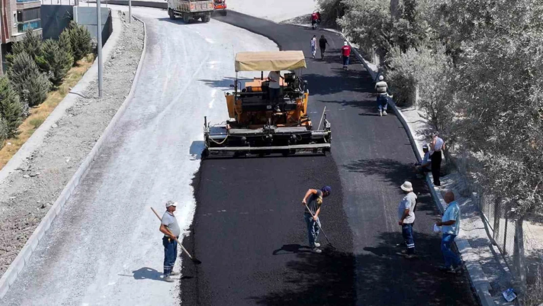
<path fill-rule="evenodd" d="M 47 74 L 40 72 L 26 52 L 14 57 L 8 76 L 15 90 L 27 99 L 30 107 L 41 104 L 47 98 L 47 92 L 51 88 Z"/>

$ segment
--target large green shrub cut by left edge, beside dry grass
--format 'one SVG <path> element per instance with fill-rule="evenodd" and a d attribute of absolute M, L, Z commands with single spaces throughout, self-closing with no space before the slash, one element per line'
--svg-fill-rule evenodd
<path fill-rule="evenodd" d="M 0 78 L 0 117 L 8 138 L 14 136 L 24 117 L 24 107 L 7 77 Z"/>

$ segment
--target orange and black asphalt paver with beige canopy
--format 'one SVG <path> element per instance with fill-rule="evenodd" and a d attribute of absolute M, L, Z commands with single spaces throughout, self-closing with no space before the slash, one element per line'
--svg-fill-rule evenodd
<path fill-rule="evenodd" d="M 225 93 L 229 118 L 212 125 L 204 117 L 202 158 L 330 152 L 332 132 L 326 113 L 323 111 L 317 128 L 307 114 L 309 89 L 302 76 L 305 67 L 302 51 L 237 53 L 236 77 L 230 85 L 233 92 Z M 238 78 L 240 71 L 260 71 L 260 77 Z M 268 71 L 288 71 L 280 77 L 279 97 L 274 93 L 274 99 L 270 80 L 264 77 Z"/>

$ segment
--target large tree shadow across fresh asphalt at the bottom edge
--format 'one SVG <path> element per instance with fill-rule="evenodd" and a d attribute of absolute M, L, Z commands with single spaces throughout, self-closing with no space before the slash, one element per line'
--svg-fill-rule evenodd
<path fill-rule="evenodd" d="M 465 274 L 438 270 L 439 235 L 417 231 L 414 235 L 420 254 L 415 260 L 401 255 L 399 230 L 381 233 L 376 246 L 365 247 L 356 257 L 344 251 L 295 252 L 296 259 L 287 264 L 282 278 L 284 288 L 277 284 L 276 291 L 250 299 L 269 306 L 476 305 Z"/>

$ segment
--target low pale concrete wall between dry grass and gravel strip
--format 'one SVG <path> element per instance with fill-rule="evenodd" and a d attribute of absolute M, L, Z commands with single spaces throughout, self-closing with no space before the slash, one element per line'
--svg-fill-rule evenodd
<path fill-rule="evenodd" d="M 116 20 L 118 22 L 118 18 L 116 18 L 116 16 L 112 15 L 111 18 L 113 23 L 115 23 Z M 113 29 L 113 32 L 108 38 L 108 41 L 102 48 L 103 57 L 104 59 L 106 59 L 104 61 L 104 64 L 111 58 L 111 52 L 113 51 L 113 49 L 115 49 L 115 46 L 117 45 L 117 41 L 120 36 L 121 34 L 119 33 L 119 31 L 115 31 L 115 29 Z M 32 155 L 32 153 L 38 147 L 40 147 L 40 145 L 43 143 L 43 140 L 47 136 L 47 132 L 49 132 L 51 126 L 53 126 L 54 123 L 56 123 L 60 118 L 62 118 L 62 116 L 66 114 L 66 110 L 71 108 L 79 97 L 85 97 L 83 95 L 83 92 L 87 89 L 91 82 L 97 79 L 97 76 L 98 63 L 97 61 L 94 61 L 89 70 L 85 72 L 84 76 L 72 88 L 68 95 L 66 95 L 66 97 L 62 99 L 59 105 L 57 105 L 52 113 L 47 116 L 46 120 L 43 121 L 41 126 L 37 128 L 34 134 L 30 136 L 30 138 L 24 143 L 24 145 L 22 145 L 21 148 L 18 149 L 17 153 L 15 153 L 15 155 L 11 157 L 11 159 L 2 168 L 2 170 L 0 170 L 0 183 L 4 183 L 4 180 L 9 176 L 9 174 L 16 171 L 16 169 L 21 166 L 23 161 L 28 159 Z"/>

